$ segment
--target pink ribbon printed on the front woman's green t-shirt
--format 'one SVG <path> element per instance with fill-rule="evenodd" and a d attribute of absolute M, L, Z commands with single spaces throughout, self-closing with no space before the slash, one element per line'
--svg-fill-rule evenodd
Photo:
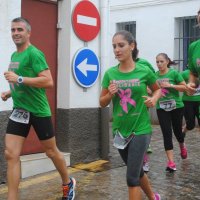
<path fill-rule="evenodd" d="M 118 95 L 121 99 L 120 105 L 122 106 L 122 109 L 124 110 L 124 112 L 128 113 L 127 103 L 130 103 L 134 107 L 136 106 L 136 102 L 133 99 L 131 99 L 131 89 L 129 88 L 126 90 L 119 89 Z"/>

